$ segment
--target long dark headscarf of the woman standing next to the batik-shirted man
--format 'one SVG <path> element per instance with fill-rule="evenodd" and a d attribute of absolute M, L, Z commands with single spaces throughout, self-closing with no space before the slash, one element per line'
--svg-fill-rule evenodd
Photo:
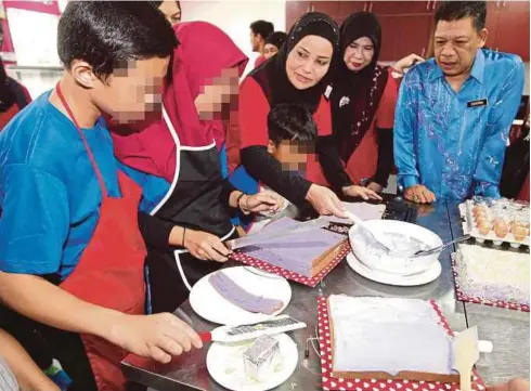
<path fill-rule="evenodd" d="M 332 109 L 341 158 L 348 160 L 373 122 L 387 84 L 387 69 L 377 65 L 381 48 L 381 27 L 376 15 L 368 12 L 351 14 L 340 28 L 341 60 L 334 77 Z M 350 70 L 344 61 L 345 51 L 357 39 L 367 37 L 374 56 L 361 71 Z"/>

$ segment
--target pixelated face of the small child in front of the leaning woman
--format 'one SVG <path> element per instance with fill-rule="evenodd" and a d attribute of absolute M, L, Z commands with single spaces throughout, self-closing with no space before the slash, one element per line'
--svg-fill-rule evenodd
<path fill-rule="evenodd" d="M 315 159 L 315 146 L 311 142 L 283 140 L 276 144 L 270 140 L 268 152 L 279 160 L 284 171 L 306 171 L 310 159 Z"/>

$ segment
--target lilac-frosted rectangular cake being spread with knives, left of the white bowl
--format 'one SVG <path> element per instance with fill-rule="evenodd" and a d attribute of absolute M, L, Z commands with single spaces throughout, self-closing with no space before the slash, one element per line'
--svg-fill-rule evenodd
<path fill-rule="evenodd" d="M 297 224 L 300 223 L 283 218 L 260 231 L 260 235 Z M 313 277 L 334 260 L 346 240 L 345 235 L 316 227 L 301 233 L 287 233 L 286 236 L 270 240 L 264 239 L 245 252 L 275 266 L 306 277 Z"/>

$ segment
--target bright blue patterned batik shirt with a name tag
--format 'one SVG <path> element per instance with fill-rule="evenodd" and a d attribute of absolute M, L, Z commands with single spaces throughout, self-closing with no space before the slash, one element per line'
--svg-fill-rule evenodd
<path fill-rule="evenodd" d="M 500 197 L 510 125 L 523 90 L 520 57 L 479 50 L 459 92 L 433 58 L 412 68 L 394 119 L 399 185 L 423 184 L 438 199 Z"/>

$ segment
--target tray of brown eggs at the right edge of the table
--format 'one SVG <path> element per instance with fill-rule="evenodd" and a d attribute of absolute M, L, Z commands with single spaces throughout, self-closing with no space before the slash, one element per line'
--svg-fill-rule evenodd
<path fill-rule="evenodd" d="M 510 199 L 474 197 L 459 205 L 463 231 L 479 243 L 529 247 L 529 204 Z"/>

